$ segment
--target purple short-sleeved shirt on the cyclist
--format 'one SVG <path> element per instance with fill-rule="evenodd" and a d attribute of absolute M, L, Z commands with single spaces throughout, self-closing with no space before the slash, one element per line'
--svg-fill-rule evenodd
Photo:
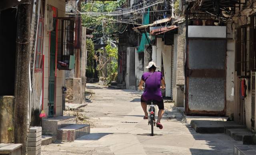
<path fill-rule="evenodd" d="M 146 72 L 142 75 L 141 79 L 145 82 L 144 93 L 142 96 L 145 100 L 162 100 L 162 92 L 160 89 L 162 78 L 163 75 L 161 72 Z"/>

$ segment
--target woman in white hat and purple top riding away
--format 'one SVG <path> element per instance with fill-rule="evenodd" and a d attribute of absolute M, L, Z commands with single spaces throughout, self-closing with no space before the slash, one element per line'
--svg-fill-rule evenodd
<path fill-rule="evenodd" d="M 163 125 L 160 123 L 162 115 L 164 114 L 164 101 L 162 98 L 161 88 L 165 89 L 165 81 L 161 72 L 156 72 L 156 66 L 154 62 L 149 62 L 148 66 L 149 72 L 145 72 L 142 75 L 140 80 L 139 89 L 143 89 L 143 85 L 145 83 L 144 93 L 141 95 L 140 102 L 142 109 L 145 113 L 144 119 L 148 119 L 148 111 L 147 111 L 147 101 L 156 100 L 158 105 L 158 119 L 156 121 L 156 127 L 159 129 L 163 128 Z M 162 85 L 161 85 L 162 84 Z"/>

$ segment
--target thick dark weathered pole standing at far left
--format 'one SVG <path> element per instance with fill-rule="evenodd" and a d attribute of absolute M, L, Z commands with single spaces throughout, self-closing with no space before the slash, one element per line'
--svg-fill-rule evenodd
<path fill-rule="evenodd" d="M 22 155 L 26 154 L 29 101 L 30 66 L 30 19 L 31 1 L 26 0 L 17 7 L 16 70 L 14 89 L 14 142 L 22 143 Z"/>

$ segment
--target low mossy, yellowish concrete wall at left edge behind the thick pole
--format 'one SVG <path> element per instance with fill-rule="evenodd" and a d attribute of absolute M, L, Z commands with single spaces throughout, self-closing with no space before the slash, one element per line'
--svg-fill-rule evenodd
<path fill-rule="evenodd" d="M 0 143 L 14 143 L 14 96 L 0 96 Z"/>

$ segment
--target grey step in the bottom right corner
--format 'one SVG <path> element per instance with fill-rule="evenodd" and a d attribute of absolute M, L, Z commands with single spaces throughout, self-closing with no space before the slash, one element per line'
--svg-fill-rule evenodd
<path fill-rule="evenodd" d="M 255 145 L 234 145 L 234 155 L 255 155 Z"/>

